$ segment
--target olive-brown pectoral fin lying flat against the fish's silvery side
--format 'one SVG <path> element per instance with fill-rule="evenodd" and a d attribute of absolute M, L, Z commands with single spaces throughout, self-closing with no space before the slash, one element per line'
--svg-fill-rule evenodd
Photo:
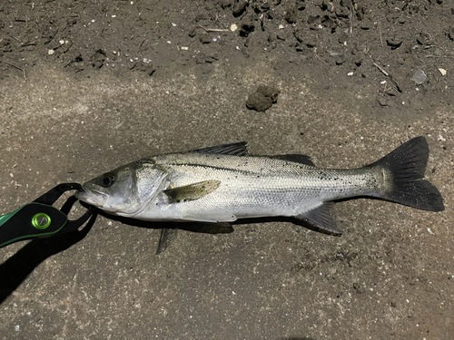
<path fill-rule="evenodd" d="M 204 180 L 202 182 L 184 185 L 163 191 L 165 195 L 171 200 L 171 203 L 187 202 L 189 200 L 201 199 L 221 185 L 220 180 Z"/>

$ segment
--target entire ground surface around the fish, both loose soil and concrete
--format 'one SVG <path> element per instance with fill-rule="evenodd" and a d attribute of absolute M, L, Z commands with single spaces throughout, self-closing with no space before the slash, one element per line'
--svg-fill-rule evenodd
<path fill-rule="evenodd" d="M 162 152 L 353 168 L 419 135 L 446 209 L 354 199 L 341 238 L 258 221 L 159 255 L 161 224 L 98 215 L 0 249 L 0 338 L 452 338 L 453 103 L 454 1 L 2 0 L 0 214 Z"/>

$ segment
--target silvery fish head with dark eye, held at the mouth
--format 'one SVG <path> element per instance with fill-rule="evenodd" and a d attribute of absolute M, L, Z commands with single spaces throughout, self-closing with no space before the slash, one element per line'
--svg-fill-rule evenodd
<path fill-rule="evenodd" d="M 134 217 L 163 189 L 166 176 L 153 160 L 138 160 L 87 181 L 75 197 L 114 215 Z"/>

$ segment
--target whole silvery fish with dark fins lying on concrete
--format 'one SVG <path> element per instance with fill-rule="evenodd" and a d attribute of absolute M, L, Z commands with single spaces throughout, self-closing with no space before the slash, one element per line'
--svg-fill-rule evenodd
<path fill-rule="evenodd" d="M 330 213 L 340 199 L 444 210 L 439 190 L 424 180 L 428 158 L 422 136 L 369 165 L 342 170 L 317 168 L 301 154 L 250 155 L 246 142 L 236 142 L 133 161 L 87 181 L 75 197 L 131 219 L 228 226 L 237 219 L 286 217 L 340 236 Z M 163 229 L 160 248 L 175 237 Z"/>

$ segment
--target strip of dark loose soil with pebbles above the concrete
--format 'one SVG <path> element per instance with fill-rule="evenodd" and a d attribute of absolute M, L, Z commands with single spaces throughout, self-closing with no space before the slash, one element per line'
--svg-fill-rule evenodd
<path fill-rule="evenodd" d="M 350 101 L 333 88 L 348 87 L 366 112 L 393 116 L 402 105 L 452 104 L 453 32 L 446 0 L 4 0 L 0 77 L 26 77 L 36 63 L 74 77 L 165 77 L 269 58 L 270 72 L 308 78 L 325 100 Z"/>

